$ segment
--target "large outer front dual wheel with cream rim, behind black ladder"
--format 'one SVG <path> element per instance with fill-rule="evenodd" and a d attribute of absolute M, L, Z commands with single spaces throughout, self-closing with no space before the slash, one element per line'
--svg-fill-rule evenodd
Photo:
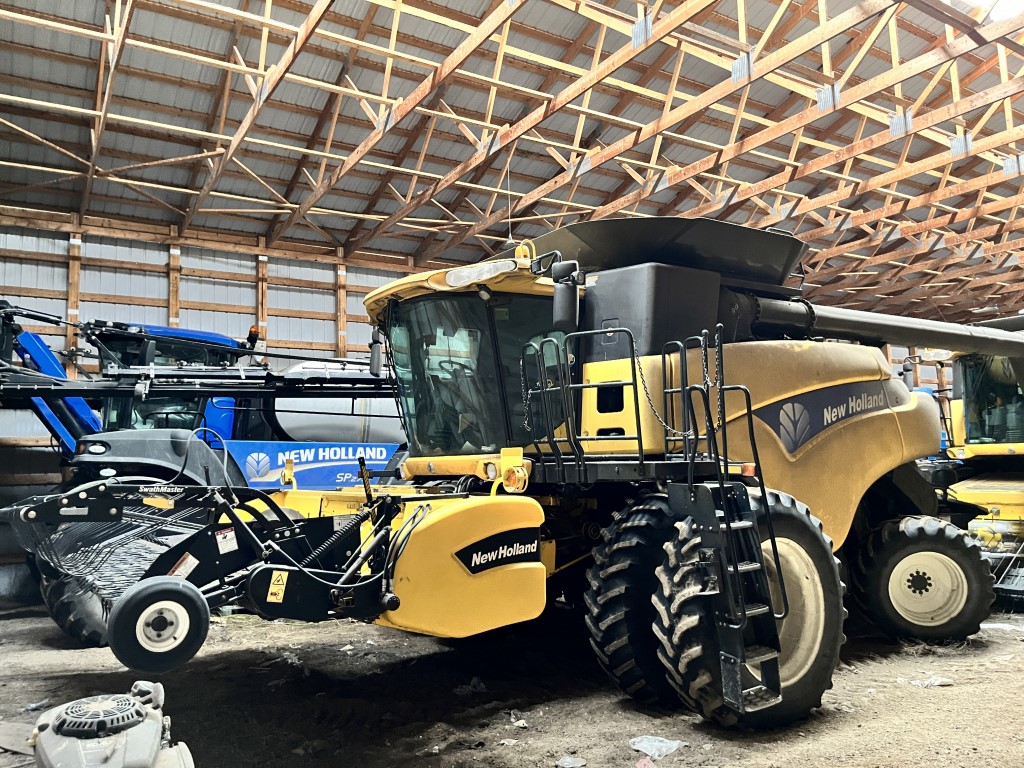
<path fill-rule="evenodd" d="M 748 496 L 759 519 L 766 511 L 771 515 L 790 602 L 790 612 L 778 626 L 782 700 L 742 714 L 725 707 L 713 598 L 706 595 L 707 570 L 698 562 L 700 539 L 689 519 L 676 524 L 678 536 L 666 545 L 665 561 L 657 569 L 655 634 L 660 643 L 658 657 L 688 709 L 721 725 L 776 728 L 820 707 L 821 695 L 831 688 L 845 640 L 843 583 L 831 542 L 806 506 L 772 490 L 767 505 L 757 489 L 749 489 Z M 778 609 L 771 545 L 763 524 L 761 530 L 765 568 Z"/>

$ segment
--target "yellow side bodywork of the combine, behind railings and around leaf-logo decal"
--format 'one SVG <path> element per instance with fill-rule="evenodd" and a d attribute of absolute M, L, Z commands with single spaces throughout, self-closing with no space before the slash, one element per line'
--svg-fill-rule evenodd
<path fill-rule="evenodd" d="M 691 352 L 688 361 L 691 382 L 700 375 L 696 354 Z M 666 414 L 660 357 L 645 357 L 641 364 L 651 397 L 659 413 Z M 725 346 L 724 366 L 727 382 L 745 384 L 751 391 L 755 437 L 766 484 L 807 504 L 821 519 L 837 549 L 846 540 L 861 498 L 878 478 L 938 451 L 939 416 L 934 400 L 907 391 L 894 380 L 878 349 L 810 341 L 745 342 Z M 590 382 L 627 380 L 629 371 L 629 360 L 596 362 L 584 367 L 584 378 Z M 795 386 L 798 371 L 799 384 Z M 894 396 L 882 410 L 837 421 L 793 453 L 783 446 L 776 425 L 766 424 L 765 417 L 758 414 L 760 409 L 802 394 L 857 382 L 887 383 Z M 664 432 L 643 392 L 640 403 L 645 453 L 663 452 Z M 738 418 L 741 398 L 729 395 L 727 406 L 729 458 L 751 461 L 745 421 Z M 697 417 L 702 423 L 699 409 Z M 677 428 L 681 426 L 679 418 L 677 413 L 673 425 Z M 636 433 L 632 387 L 626 388 L 624 408 L 617 414 L 597 413 L 596 395 L 585 395 L 581 431 L 595 434 L 598 429 L 609 428 Z M 879 445 L 885 450 L 877 450 Z M 636 441 L 593 441 L 585 446 L 594 453 L 630 453 L 636 451 Z"/>

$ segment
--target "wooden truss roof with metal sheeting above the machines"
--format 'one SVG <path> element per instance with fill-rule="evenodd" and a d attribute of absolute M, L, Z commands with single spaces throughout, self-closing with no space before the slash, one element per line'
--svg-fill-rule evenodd
<path fill-rule="evenodd" d="M 715 216 L 795 231 L 817 300 L 1024 308 L 1024 18 L 759 3 L 0 0 L 77 41 L 0 61 L 0 195 L 404 267 L 506 220 Z"/>

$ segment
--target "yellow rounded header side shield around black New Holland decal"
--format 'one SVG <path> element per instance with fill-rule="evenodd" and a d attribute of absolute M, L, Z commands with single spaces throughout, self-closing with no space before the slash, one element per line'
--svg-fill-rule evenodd
<path fill-rule="evenodd" d="M 429 504 L 395 566 L 393 589 L 401 606 L 376 623 L 425 635 L 468 637 L 539 616 L 547 599 L 547 568 L 540 556 L 536 562 L 499 564 L 474 574 L 455 553 L 504 531 L 540 528 L 541 505 L 521 496 Z M 407 504 L 394 527 L 415 509 Z"/>

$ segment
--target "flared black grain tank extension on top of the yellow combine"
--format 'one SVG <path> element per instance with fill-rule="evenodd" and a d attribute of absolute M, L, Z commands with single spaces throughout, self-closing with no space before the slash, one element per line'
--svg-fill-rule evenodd
<path fill-rule="evenodd" d="M 785 282 L 806 248 L 792 234 L 678 216 L 581 221 L 542 234 L 534 245 L 538 255 L 559 251 L 586 272 L 655 262 L 769 286 Z"/>

